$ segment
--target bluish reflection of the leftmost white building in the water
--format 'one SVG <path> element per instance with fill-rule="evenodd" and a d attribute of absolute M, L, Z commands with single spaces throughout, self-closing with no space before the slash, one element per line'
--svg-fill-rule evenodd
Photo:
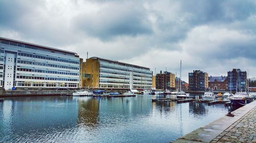
<path fill-rule="evenodd" d="M 53 133 L 53 128 L 73 128 L 77 106 L 72 102 L 68 96 L 6 98 L 0 103 L 0 119 L 5 119 L 0 120 L 0 138 L 10 135 L 31 138 L 34 131 L 42 135 Z M 16 141 L 11 139 L 15 140 L 12 136 L 10 142 Z"/>

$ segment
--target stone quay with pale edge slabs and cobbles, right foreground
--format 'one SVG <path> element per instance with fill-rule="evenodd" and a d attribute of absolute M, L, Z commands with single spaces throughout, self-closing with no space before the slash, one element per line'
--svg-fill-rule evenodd
<path fill-rule="evenodd" d="M 171 142 L 256 142 L 256 101 Z"/>

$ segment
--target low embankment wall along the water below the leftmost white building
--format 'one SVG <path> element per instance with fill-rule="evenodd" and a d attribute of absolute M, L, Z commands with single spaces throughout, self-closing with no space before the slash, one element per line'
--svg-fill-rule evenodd
<path fill-rule="evenodd" d="M 71 95 L 72 91 L 0 91 L 0 97 L 9 96 L 45 96 L 45 95 Z"/>

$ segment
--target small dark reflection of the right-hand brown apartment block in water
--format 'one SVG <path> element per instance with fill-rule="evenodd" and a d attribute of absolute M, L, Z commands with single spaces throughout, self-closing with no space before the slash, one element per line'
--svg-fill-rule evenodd
<path fill-rule="evenodd" d="M 193 113 L 193 115 L 205 115 L 208 113 L 208 109 L 205 108 L 204 103 L 199 102 L 189 102 L 189 113 Z"/>

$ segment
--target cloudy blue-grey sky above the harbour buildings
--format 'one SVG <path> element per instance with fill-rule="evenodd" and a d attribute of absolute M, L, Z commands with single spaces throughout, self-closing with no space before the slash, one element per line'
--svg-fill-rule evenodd
<path fill-rule="evenodd" d="M 0 1 L 0 37 L 179 76 L 256 77 L 256 1 Z"/>

